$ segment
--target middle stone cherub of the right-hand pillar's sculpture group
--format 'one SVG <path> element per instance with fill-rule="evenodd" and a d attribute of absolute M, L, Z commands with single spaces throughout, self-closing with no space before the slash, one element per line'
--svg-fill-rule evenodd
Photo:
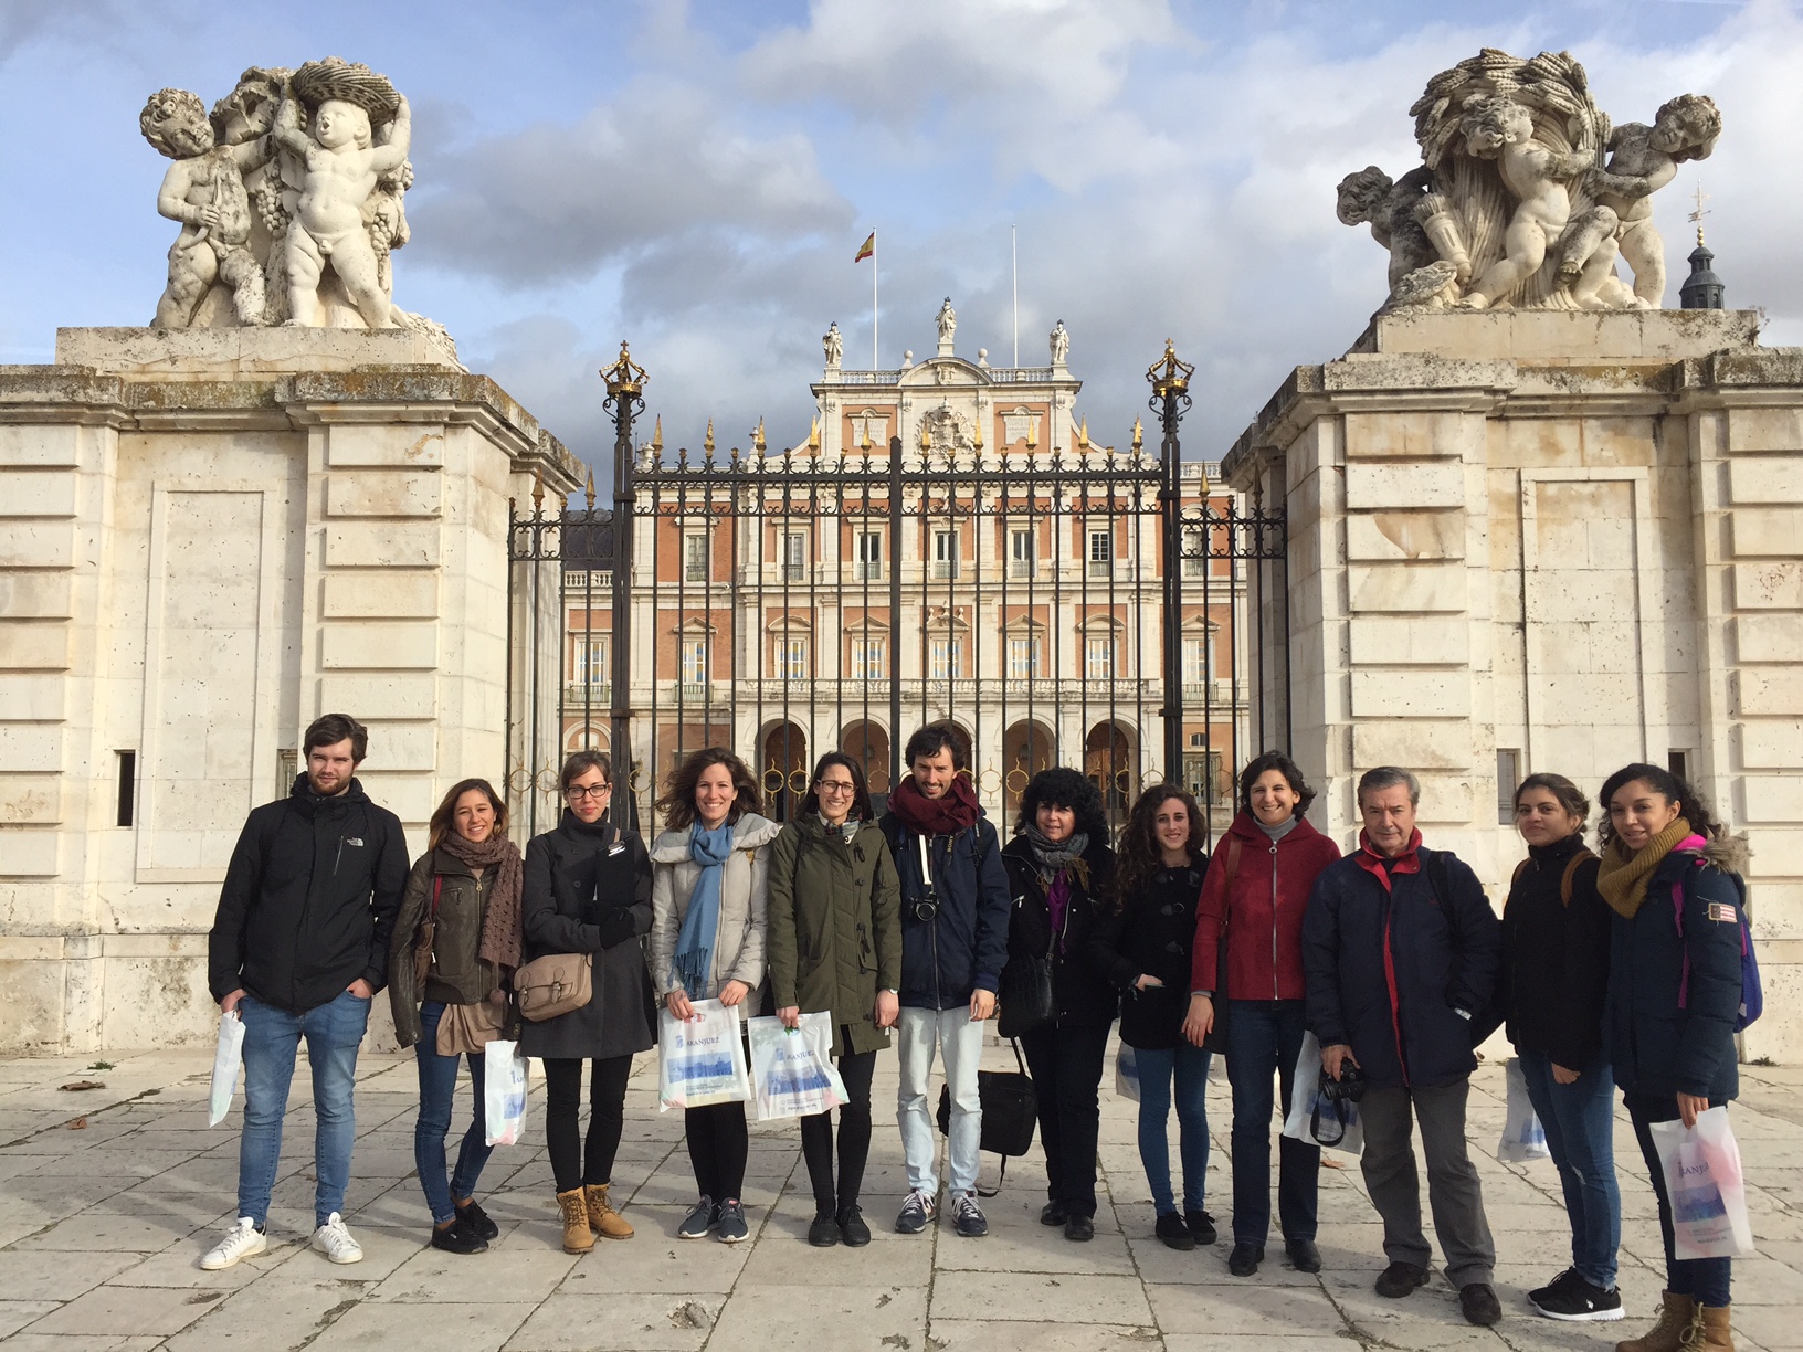
<path fill-rule="evenodd" d="M 1504 233 L 1502 258 L 1459 301 L 1462 308 L 1482 310 L 1540 270 L 1547 247 L 1570 222 L 1569 184 L 1592 168 L 1594 150 L 1576 146 L 1561 153 L 1534 141 L 1533 114 L 1507 94 L 1468 99 L 1460 130 L 1469 155 L 1496 160 L 1502 184 L 1516 204 Z"/>

